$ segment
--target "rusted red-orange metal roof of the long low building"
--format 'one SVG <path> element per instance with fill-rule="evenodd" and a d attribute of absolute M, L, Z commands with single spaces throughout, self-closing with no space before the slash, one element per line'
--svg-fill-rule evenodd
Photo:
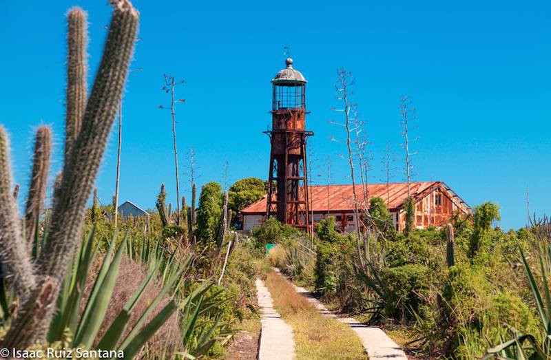
<path fill-rule="evenodd" d="M 431 189 L 440 188 L 450 193 L 451 197 L 455 198 L 455 201 L 460 206 L 466 208 L 466 211 L 470 211 L 470 207 L 453 191 L 450 192 L 450 188 L 444 182 L 411 182 L 410 193 L 415 200 L 423 198 L 428 195 Z M 323 211 L 353 211 L 354 209 L 354 195 L 352 185 L 320 185 L 309 187 L 310 189 L 310 201 L 311 210 L 314 212 Z M 387 184 L 368 184 L 367 185 L 368 198 L 378 196 L 387 201 Z M 356 185 L 356 194 L 358 202 L 360 204 L 364 201 L 364 191 L 362 185 Z M 404 204 L 404 200 L 408 197 L 408 184 L 406 182 L 393 182 L 388 184 L 388 207 L 389 209 L 400 209 Z M 245 209 L 241 210 L 243 214 L 263 214 L 266 213 L 266 195 L 257 202 L 253 202 Z"/>

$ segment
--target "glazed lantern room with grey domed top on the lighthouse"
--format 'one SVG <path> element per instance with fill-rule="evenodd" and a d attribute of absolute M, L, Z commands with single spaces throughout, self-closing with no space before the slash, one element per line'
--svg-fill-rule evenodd
<path fill-rule="evenodd" d="M 272 110 L 306 109 L 306 79 L 293 69 L 293 59 L 287 58 L 287 67 L 272 79 Z"/>

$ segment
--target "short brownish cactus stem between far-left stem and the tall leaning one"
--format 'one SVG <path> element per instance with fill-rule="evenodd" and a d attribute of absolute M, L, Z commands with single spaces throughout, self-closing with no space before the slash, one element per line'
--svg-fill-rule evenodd
<path fill-rule="evenodd" d="M 50 171 L 51 147 L 52 130 L 45 126 L 39 127 L 34 141 L 32 173 L 25 206 L 25 232 L 29 243 L 32 243 L 36 223 L 44 207 L 48 171 Z"/>

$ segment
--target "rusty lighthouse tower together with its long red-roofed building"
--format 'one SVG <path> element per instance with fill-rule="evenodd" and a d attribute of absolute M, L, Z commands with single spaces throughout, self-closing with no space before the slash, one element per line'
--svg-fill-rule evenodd
<path fill-rule="evenodd" d="M 240 211 L 244 231 L 250 231 L 268 217 L 274 217 L 304 231 L 312 224 L 334 216 L 337 230 L 355 231 L 355 206 L 352 185 L 309 186 L 306 167 L 306 140 L 313 136 L 306 130 L 306 78 L 293 68 L 293 59 L 271 80 L 272 122 L 264 131 L 270 139 L 270 162 L 267 195 Z M 404 201 L 408 184 L 368 184 L 368 200 L 382 198 L 391 212 L 397 231 L 406 223 Z M 357 185 L 357 202 L 364 202 L 364 188 Z M 468 214 L 470 207 L 444 182 L 410 183 L 415 200 L 415 226 L 439 226 L 455 212 Z M 362 208 L 362 206 L 360 206 Z M 362 219 L 360 219 L 362 220 Z"/>

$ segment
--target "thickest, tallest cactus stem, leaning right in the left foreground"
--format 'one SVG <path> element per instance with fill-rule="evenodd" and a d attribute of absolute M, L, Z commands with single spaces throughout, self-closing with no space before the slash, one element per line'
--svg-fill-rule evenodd
<path fill-rule="evenodd" d="M 125 0 L 115 1 L 103 58 L 88 98 L 81 131 L 65 166 L 67 171 L 61 181 L 59 202 L 43 251 L 41 270 L 48 275 L 57 276 L 67 267 L 80 242 L 86 202 L 121 102 L 137 30 L 138 12 L 132 4 Z"/>

